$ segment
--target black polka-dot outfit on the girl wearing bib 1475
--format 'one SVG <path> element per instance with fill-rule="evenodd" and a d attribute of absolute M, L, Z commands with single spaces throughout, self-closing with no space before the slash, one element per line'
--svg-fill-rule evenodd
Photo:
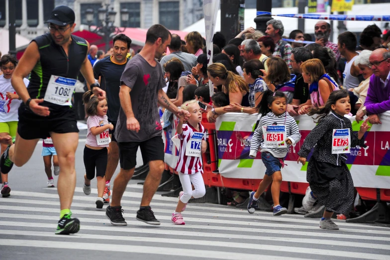
<path fill-rule="evenodd" d="M 314 147 L 306 180 L 326 211 L 338 214 L 349 213 L 354 200 L 354 184 L 346 165 L 348 155 L 332 154 L 333 130 L 347 128 L 351 133 L 351 147 L 366 147 L 364 137 L 358 139 L 358 134 L 352 131 L 351 121 L 332 112 L 310 131 L 298 152 L 299 156 L 307 158 Z"/>

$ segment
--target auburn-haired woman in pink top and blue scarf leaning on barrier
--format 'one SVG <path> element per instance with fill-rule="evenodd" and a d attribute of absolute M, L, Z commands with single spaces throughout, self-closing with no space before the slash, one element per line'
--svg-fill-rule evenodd
<path fill-rule="evenodd" d="M 322 107 L 329 98 L 330 93 L 339 90 L 334 80 L 326 74 L 324 65 L 319 59 L 310 59 L 300 65 L 303 81 L 309 84 L 310 100 L 312 105 L 299 108 L 299 115 L 307 114 L 313 106 Z"/>

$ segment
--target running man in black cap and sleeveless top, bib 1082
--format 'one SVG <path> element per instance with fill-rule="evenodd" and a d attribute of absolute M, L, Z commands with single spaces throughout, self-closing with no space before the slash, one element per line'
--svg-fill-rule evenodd
<path fill-rule="evenodd" d="M 105 92 L 95 84 L 92 65 L 87 58 L 89 43 L 72 35 L 74 11 L 67 6 L 57 6 L 46 23 L 50 32 L 31 41 L 12 75 L 12 86 L 23 103 L 18 111 L 16 141 L 1 155 L 0 167 L 4 173 L 9 172 L 13 164 L 24 165 L 40 138 L 52 138 L 60 165 L 57 185 L 61 212 L 56 234 L 65 235 L 80 230 L 80 221 L 72 218 L 70 211 L 76 185 L 75 152 L 79 140 L 71 99 L 79 72 L 99 100 L 105 98 Z M 23 78 L 29 74 L 30 84 L 26 88 Z"/>

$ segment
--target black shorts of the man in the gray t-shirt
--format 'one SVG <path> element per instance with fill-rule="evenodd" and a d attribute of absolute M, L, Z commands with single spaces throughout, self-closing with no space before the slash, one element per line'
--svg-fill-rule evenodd
<path fill-rule="evenodd" d="M 120 168 L 130 170 L 137 165 L 137 151 L 141 148 L 149 161 L 164 161 L 164 142 L 161 135 L 157 135 L 142 142 L 118 142 Z M 143 154 L 142 154 L 143 155 Z"/>

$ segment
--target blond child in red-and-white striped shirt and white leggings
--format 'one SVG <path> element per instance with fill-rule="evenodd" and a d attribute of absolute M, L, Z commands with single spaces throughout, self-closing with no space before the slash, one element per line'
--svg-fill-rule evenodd
<path fill-rule="evenodd" d="M 206 193 L 201 175 L 203 173 L 201 153 L 206 151 L 207 142 L 205 141 L 205 129 L 200 124 L 202 121 L 201 109 L 196 100 L 185 102 L 181 106 L 181 109 L 190 112 L 190 118 L 187 120 L 187 124 L 184 124 L 185 115 L 179 116 L 179 124 L 177 127 L 178 137 L 180 139 L 180 152 L 175 171 L 179 173 L 183 191 L 179 194 L 178 206 L 171 218 L 172 223 L 175 225 L 185 225 L 182 211 L 185 210 L 188 201 L 191 198 L 201 198 Z M 202 137 L 198 136 L 201 138 L 201 143 L 192 140 L 196 132 L 203 134 Z M 189 149 L 191 147 L 195 148 L 191 149 L 191 152 L 196 153 L 197 156 L 186 155 L 187 143 L 189 144 Z M 197 151 L 195 152 L 195 150 Z M 191 183 L 194 185 L 195 190 L 193 190 Z"/>

